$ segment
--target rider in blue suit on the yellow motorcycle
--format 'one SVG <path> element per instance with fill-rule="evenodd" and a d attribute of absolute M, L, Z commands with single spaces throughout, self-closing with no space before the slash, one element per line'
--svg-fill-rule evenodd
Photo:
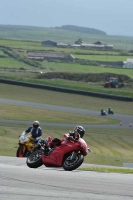
<path fill-rule="evenodd" d="M 40 127 L 39 121 L 34 121 L 33 125 L 28 127 L 25 130 L 25 134 L 27 134 L 29 132 L 31 133 L 32 137 L 34 138 L 34 143 L 37 144 L 42 136 L 42 129 Z"/>

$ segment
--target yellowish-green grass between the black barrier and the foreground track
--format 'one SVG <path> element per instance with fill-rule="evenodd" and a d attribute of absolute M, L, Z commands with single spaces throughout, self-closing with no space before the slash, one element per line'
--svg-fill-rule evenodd
<path fill-rule="evenodd" d="M 132 102 L 121 102 L 115 100 L 105 100 L 94 97 L 83 97 L 82 95 L 73 95 L 66 93 L 59 93 L 48 90 L 33 89 L 22 86 L 12 86 L 6 84 L 0 84 L 0 98 L 31 101 L 38 103 L 48 103 L 54 105 L 64 105 L 78 108 L 100 110 L 101 107 L 108 108 L 112 106 L 115 112 L 133 114 L 131 109 Z M 9 112 L 10 111 L 10 112 Z M 63 120 L 69 121 L 69 117 L 72 117 L 74 123 L 80 123 L 83 120 L 101 120 L 100 117 L 93 118 L 91 116 L 83 115 L 67 115 L 55 111 L 45 111 L 35 108 L 25 108 L 11 105 L 1 105 L 0 118 L 1 119 L 18 119 L 33 121 L 35 119 L 35 113 L 39 120 L 45 121 L 50 119 L 51 122 Z M 41 116 L 39 116 L 41 113 Z M 48 117 L 45 114 L 48 114 Z M 81 119 L 82 118 L 82 119 Z M 81 120 L 81 121 L 80 121 Z M 103 119 L 102 119 L 103 120 Z M 83 123 L 83 121 L 82 121 Z M 94 123 L 94 122 L 93 122 Z M 103 123 L 103 121 L 99 121 Z M 106 121 L 105 123 L 114 123 L 112 121 Z M 45 127 L 43 129 L 43 138 L 48 135 L 52 137 L 62 138 L 63 133 L 70 131 L 69 128 L 61 127 Z M 27 128 L 24 124 L 7 124 L 0 123 L 0 155 L 3 156 L 16 156 L 18 136 L 23 130 Z M 102 164 L 102 165 L 114 165 L 122 166 L 124 162 L 133 162 L 133 132 L 126 129 L 86 129 L 84 137 L 88 146 L 91 149 L 91 153 L 85 157 L 85 162 L 90 164 Z M 3 145 L 4 144 L 4 145 Z"/>

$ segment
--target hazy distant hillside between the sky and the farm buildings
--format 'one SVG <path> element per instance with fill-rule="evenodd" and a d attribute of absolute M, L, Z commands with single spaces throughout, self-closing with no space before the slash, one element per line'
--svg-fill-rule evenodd
<path fill-rule="evenodd" d="M 53 40 L 57 43 L 65 44 L 74 44 L 75 41 L 81 39 L 84 43 L 88 44 L 103 41 L 105 44 L 113 44 L 114 49 L 133 50 L 133 37 L 112 36 L 97 29 L 72 25 L 48 28 L 0 24 L 0 39 L 40 42 Z M 0 43 L 0 45 L 2 45 L 2 43 Z"/>

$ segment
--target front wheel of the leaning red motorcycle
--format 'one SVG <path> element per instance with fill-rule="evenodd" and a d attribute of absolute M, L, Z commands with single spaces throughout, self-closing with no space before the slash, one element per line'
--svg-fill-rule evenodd
<path fill-rule="evenodd" d="M 78 153 L 74 159 L 71 159 L 72 154 L 66 156 L 63 162 L 63 168 L 66 171 L 72 171 L 77 169 L 84 161 L 84 156 Z"/>

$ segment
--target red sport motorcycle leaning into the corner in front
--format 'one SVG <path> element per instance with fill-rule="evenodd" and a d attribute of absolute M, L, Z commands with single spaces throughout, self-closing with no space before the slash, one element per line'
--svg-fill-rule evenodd
<path fill-rule="evenodd" d="M 52 142 L 52 138 L 48 137 L 46 141 L 42 141 L 41 148 L 31 153 L 27 158 L 28 167 L 37 168 L 44 164 L 46 167 L 63 167 L 64 170 L 72 171 L 83 163 L 84 156 L 90 151 L 82 138 L 77 140 L 67 137 L 67 134 L 64 135 L 61 145 L 54 147 L 49 152 L 46 151 L 45 146 L 46 143 L 48 146 Z"/>

